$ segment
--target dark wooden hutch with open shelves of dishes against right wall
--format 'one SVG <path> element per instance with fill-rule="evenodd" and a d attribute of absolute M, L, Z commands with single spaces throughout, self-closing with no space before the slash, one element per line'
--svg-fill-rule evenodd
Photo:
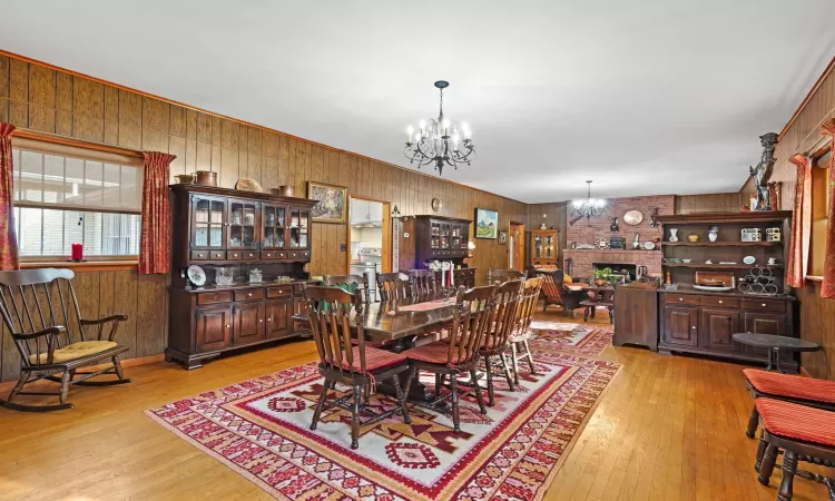
<path fill-rule="evenodd" d="M 795 332 L 795 299 L 784 292 L 784 264 L 788 257 L 790 212 L 752 212 L 690 214 L 660 216 L 664 242 L 662 269 L 665 279 L 678 284 L 676 291 L 659 288 L 660 352 L 698 353 L 747 362 L 766 362 L 767 353 L 735 343 L 734 333 L 752 332 L 797 336 Z M 708 233 L 717 229 L 716 242 Z M 678 230 L 678 242 L 669 242 L 670 228 Z M 758 228 L 763 240 L 743 242 L 743 229 Z M 778 242 L 766 242 L 766 229 L 779 228 Z M 689 235 L 698 235 L 696 242 Z M 753 264 L 743 259 L 753 256 Z M 775 264 L 768 265 L 774 258 Z M 691 259 L 689 263 L 678 261 Z M 706 262 L 710 262 L 706 264 Z M 776 277 L 777 295 L 746 294 L 739 281 L 753 266 L 763 266 Z M 723 278 L 728 292 L 706 292 L 694 288 L 697 273 Z M 669 274 L 669 275 L 668 275 Z M 718 278 L 716 278 L 718 279 Z M 617 326 L 616 326 L 617 327 Z M 796 367 L 797 362 L 787 361 Z"/>

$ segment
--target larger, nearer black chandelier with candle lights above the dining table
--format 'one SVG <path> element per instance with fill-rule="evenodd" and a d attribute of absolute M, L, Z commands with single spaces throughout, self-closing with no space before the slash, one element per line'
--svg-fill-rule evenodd
<path fill-rule="evenodd" d="M 449 86 L 450 82 L 444 80 L 435 82 L 441 91 L 438 120 L 421 120 L 418 131 L 410 125 L 406 128 L 406 147 L 403 149 L 410 164 L 418 164 L 418 168 L 434 164 L 439 176 L 443 175 L 444 165 L 458 169 L 459 164 L 470 165 L 475 159 L 470 126 L 466 122 L 459 126 L 443 116 L 443 89 Z"/>

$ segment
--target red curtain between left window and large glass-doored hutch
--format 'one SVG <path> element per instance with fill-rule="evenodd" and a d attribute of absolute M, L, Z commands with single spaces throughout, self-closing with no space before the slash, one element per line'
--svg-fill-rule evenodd
<path fill-rule="evenodd" d="M 145 153 L 143 185 L 143 235 L 139 240 L 139 273 L 168 273 L 170 230 L 168 209 L 168 171 L 177 158 L 158 151 Z"/>

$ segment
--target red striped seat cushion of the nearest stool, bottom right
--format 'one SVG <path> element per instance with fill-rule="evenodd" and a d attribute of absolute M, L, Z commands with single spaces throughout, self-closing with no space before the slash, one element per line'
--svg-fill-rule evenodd
<path fill-rule="evenodd" d="M 757 399 L 757 411 L 769 433 L 835 446 L 835 412 L 774 399 Z"/>

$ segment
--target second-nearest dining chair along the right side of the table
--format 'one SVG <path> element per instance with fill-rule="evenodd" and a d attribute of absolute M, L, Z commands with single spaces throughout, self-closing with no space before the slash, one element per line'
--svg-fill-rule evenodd
<path fill-rule="evenodd" d="M 497 306 L 493 321 L 490 322 L 484 334 L 484 342 L 479 350 L 479 356 L 484 360 L 484 372 L 488 383 L 488 405 L 495 404 L 495 391 L 493 389 L 493 357 L 498 357 L 504 369 L 508 386 L 512 392 L 513 375 L 505 355 L 510 352 L 510 335 L 513 333 L 519 314 L 519 298 L 522 292 L 522 281 L 508 281 L 497 286 Z"/>

